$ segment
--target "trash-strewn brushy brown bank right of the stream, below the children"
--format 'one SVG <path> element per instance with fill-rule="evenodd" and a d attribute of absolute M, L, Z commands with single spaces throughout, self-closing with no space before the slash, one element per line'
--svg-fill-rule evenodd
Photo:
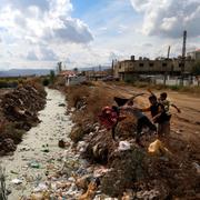
<path fill-rule="evenodd" d="M 90 87 L 89 90 L 96 88 Z M 100 103 L 102 97 L 107 96 L 96 98 L 96 102 Z M 88 107 L 92 104 L 88 102 L 92 102 L 92 98 L 89 98 L 90 94 L 84 98 L 84 107 L 71 109 L 73 117 L 84 113 L 86 119 L 91 114 Z M 97 103 L 93 107 L 97 107 Z M 134 142 L 136 119 L 128 118 L 118 124 L 117 141 L 112 139 L 110 131 L 101 129 L 92 119 L 91 122 L 83 122 L 83 119 L 81 123 L 79 121 L 80 124 L 74 126 L 70 138 L 82 158 L 87 159 L 93 169 L 100 169 L 99 172 L 90 171 L 93 178 L 98 178 L 98 187 L 91 189 L 91 182 L 88 183 L 80 199 L 200 198 L 200 174 L 193 167 L 194 151 L 187 141 L 169 136 L 160 142 L 157 141 L 157 136 L 147 132 L 147 136 L 142 137 L 144 148 L 141 148 Z M 86 131 L 86 127 L 91 129 Z M 157 144 L 153 153 L 148 152 L 152 142 Z M 79 148 L 81 144 L 84 147 Z"/>

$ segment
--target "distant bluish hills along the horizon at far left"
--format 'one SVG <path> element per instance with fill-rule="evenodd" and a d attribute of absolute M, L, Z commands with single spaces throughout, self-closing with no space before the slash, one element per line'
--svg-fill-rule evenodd
<path fill-rule="evenodd" d="M 26 77 L 26 76 L 46 76 L 51 69 L 10 69 L 0 71 L 0 77 Z"/>

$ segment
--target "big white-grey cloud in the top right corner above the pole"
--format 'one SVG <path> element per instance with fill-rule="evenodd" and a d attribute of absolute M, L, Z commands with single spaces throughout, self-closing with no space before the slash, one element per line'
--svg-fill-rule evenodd
<path fill-rule="evenodd" d="M 144 13 L 142 32 L 148 36 L 178 38 L 200 36 L 199 0 L 130 0 L 136 11 Z"/>

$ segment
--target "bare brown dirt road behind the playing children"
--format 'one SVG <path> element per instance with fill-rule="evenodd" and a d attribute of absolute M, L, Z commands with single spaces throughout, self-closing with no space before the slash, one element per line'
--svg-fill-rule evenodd
<path fill-rule="evenodd" d="M 149 106 L 147 89 L 134 88 L 131 86 L 117 86 L 114 83 L 102 83 L 108 90 L 114 90 L 116 96 L 129 98 L 136 93 L 144 92 L 142 97 L 137 98 L 137 103 L 141 108 Z M 176 109 L 170 108 L 172 113 L 171 119 L 171 136 L 180 138 L 190 144 L 196 146 L 200 152 L 200 98 L 191 93 L 180 93 L 171 90 L 164 90 L 168 93 L 168 99 L 173 102 L 180 110 L 178 113 Z M 154 90 L 158 97 L 162 90 Z M 149 116 L 149 114 L 148 114 Z M 150 117 L 150 116 L 149 116 Z M 200 153 L 197 156 L 200 162 Z"/>

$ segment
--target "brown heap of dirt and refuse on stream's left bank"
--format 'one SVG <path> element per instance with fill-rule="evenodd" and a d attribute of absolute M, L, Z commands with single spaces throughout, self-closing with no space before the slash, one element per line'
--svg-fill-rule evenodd
<path fill-rule="evenodd" d="M 46 104 L 40 83 L 24 82 L 0 99 L 0 154 L 16 150 L 24 131 L 39 122 L 38 111 Z"/>

